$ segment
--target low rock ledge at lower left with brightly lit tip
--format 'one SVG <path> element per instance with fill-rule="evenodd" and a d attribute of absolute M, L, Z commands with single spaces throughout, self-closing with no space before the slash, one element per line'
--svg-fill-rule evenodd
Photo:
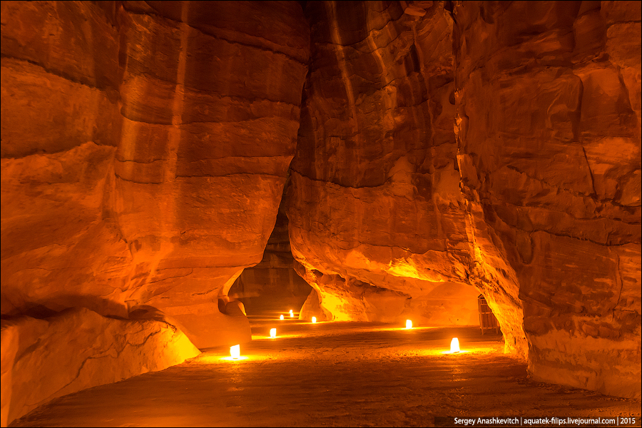
<path fill-rule="evenodd" d="M 61 395 L 163 370 L 200 354 L 162 320 L 116 320 L 86 308 L 2 320 L 2 426 Z"/>

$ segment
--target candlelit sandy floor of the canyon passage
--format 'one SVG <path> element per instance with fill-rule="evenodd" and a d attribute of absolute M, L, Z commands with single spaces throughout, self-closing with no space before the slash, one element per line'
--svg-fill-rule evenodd
<path fill-rule="evenodd" d="M 277 317 L 278 314 L 275 315 Z M 434 416 L 640 416 L 640 402 L 532 382 L 479 329 L 251 317 L 245 360 L 221 347 L 61 397 L 11 426 L 433 426 Z M 270 339 L 270 328 L 278 337 Z M 446 355 L 452 337 L 461 355 Z M 639 420 L 639 419 L 638 419 Z"/>

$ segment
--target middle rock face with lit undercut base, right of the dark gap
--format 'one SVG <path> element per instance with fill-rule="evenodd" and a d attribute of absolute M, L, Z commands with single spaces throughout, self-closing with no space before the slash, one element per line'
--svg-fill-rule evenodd
<path fill-rule="evenodd" d="M 476 323 L 452 20 L 438 4 L 415 16 L 396 1 L 305 13 L 312 59 L 287 211 L 297 269 L 315 289 L 302 317 Z"/>

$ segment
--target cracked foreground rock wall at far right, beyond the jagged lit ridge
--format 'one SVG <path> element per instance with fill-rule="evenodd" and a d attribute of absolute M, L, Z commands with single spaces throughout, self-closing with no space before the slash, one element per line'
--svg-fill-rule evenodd
<path fill-rule="evenodd" d="M 461 2 L 472 281 L 529 371 L 640 397 L 640 3 Z"/>

